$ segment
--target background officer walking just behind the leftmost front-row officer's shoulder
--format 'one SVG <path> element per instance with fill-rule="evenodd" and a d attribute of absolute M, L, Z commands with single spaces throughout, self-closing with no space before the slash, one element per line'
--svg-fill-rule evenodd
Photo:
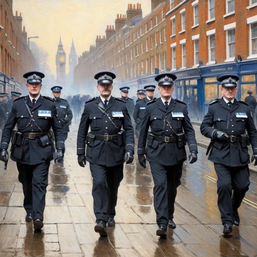
<path fill-rule="evenodd" d="M 54 96 L 53 100 L 56 106 L 57 116 L 59 118 L 59 122 L 61 123 L 63 139 L 65 142 L 68 137 L 68 132 L 70 132 L 69 125 L 71 124 L 73 115 L 68 101 L 60 97 L 61 89 L 62 87 L 60 86 L 54 86 L 51 88 Z M 59 160 L 58 162 L 63 163 L 63 159 Z"/>

